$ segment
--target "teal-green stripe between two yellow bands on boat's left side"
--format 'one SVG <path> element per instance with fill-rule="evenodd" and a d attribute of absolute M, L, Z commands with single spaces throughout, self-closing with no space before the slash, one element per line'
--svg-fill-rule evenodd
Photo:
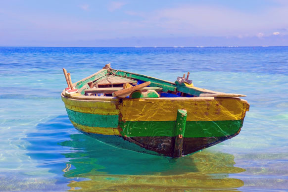
<path fill-rule="evenodd" d="M 75 123 L 90 127 L 118 127 L 118 115 L 98 115 L 90 113 L 81 113 L 67 109 L 68 117 Z"/>

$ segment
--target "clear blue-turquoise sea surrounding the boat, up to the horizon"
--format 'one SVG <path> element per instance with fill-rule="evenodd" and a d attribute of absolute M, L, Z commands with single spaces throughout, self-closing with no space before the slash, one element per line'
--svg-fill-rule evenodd
<path fill-rule="evenodd" d="M 70 123 L 60 93 L 112 68 L 247 95 L 238 136 L 171 159 L 100 143 Z M 0 47 L 0 192 L 287 192 L 288 47 Z"/>

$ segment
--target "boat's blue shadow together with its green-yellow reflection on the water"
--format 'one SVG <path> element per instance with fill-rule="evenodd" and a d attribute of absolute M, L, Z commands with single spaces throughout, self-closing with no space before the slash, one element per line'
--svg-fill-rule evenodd
<path fill-rule="evenodd" d="M 227 192 L 243 186 L 240 179 L 229 178 L 245 171 L 234 166 L 232 154 L 206 149 L 171 159 L 119 149 L 80 134 L 65 115 L 39 124 L 37 130 L 26 138 L 31 144 L 27 154 L 57 174 L 58 183 L 68 182 L 71 190 Z"/>

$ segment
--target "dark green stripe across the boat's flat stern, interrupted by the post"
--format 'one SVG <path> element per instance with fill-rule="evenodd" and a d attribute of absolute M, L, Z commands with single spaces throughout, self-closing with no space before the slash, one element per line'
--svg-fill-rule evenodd
<path fill-rule="evenodd" d="M 121 134 L 128 137 L 174 137 L 175 121 L 126 121 L 120 122 Z M 185 138 L 222 137 L 237 133 L 242 120 L 187 121 Z"/>

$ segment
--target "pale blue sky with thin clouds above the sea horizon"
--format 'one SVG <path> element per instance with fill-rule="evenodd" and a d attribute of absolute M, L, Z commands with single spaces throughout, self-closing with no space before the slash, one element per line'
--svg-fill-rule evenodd
<path fill-rule="evenodd" d="M 288 0 L 0 0 L 0 46 L 288 46 Z"/>

